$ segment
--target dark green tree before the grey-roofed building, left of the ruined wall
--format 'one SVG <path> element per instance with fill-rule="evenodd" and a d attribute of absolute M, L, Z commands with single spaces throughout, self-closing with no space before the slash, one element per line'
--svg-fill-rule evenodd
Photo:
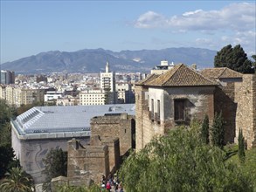
<path fill-rule="evenodd" d="M 67 172 L 67 153 L 59 149 L 51 149 L 49 153 L 46 154 L 45 159 L 43 159 L 45 164 L 45 174 L 46 179 L 43 184 L 43 189 L 46 191 L 51 191 L 51 181 L 52 178 L 58 176 L 66 176 Z"/>

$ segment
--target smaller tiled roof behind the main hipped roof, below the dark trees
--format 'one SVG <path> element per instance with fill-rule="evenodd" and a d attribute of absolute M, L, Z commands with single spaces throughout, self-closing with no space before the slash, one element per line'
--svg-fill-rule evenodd
<path fill-rule="evenodd" d="M 200 72 L 204 77 L 209 79 L 224 79 L 224 78 L 242 78 L 243 74 L 235 72 L 227 67 L 209 68 Z"/>

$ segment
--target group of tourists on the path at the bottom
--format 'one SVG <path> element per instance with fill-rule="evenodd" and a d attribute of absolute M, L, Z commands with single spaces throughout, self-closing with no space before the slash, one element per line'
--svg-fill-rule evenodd
<path fill-rule="evenodd" d="M 102 190 L 107 189 L 107 191 L 110 191 L 111 189 L 114 189 L 114 192 L 124 191 L 122 182 L 119 181 L 117 174 L 114 174 L 114 176 L 109 174 L 107 178 L 105 175 L 102 175 L 100 185 Z"/>

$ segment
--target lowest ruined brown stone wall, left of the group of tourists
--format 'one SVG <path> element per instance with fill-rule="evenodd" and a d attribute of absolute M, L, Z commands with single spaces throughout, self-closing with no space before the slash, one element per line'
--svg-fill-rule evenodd
<path fill-rule="evenodd" d="M 68 141 L 67 177 L 71 185 L 80 186 L 91 180 L 100 182 L 101 175 L 109 174 L 108 163 L 106 145 L 82 146 L 75 139 Z"/>

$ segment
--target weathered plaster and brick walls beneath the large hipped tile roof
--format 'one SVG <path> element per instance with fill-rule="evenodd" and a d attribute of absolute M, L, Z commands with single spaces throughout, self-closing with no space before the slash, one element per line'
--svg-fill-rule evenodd
<path fill-rule="evenodd" d="M 157 135 L 165 134 L 170 128 L 175 127 L 174 120 L 174 100 L 186 99 L 187 125 L 190 120 L 196 118 L 203 120 L 204 114 L 208 114 L 210 123 L 214 118 L 214 87 L 169 87 L 150 88 L 136 87 L 136 149 L 140 150 Z M 145 98 L 145 93 L 149 91 L 149 99 Z M 163 114 L 160 120 L 152 119 L 149 103 L 160 100 L 160 109 Z M 156 105 L 154 106 L 156 108 Z M 155 110 L 156 111 L 156 110 Z M 157 113 L 155 113 L 155 116 Z"/>

